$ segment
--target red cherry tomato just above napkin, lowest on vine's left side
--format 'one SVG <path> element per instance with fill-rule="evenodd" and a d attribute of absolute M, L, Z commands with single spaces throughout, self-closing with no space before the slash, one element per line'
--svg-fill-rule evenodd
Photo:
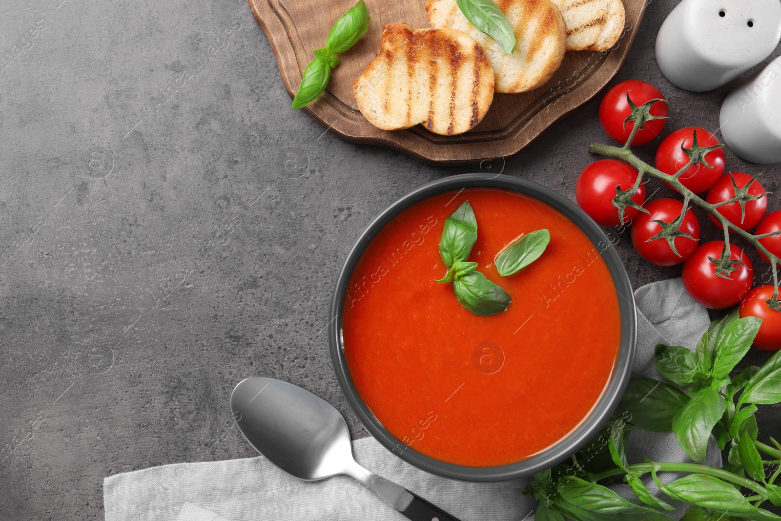
<path fill-rule="evenodd" d="M 729 244 L 729 259 L 742 259 L 743 263 L 729 274 L 729 279 L 716 275 L 716 266 L 708 257 L 719 259 L 722 248 L 723 241 L 702 244 L 686 259 L 681 270 L 686 293 L 706 308 L 725 309 L 736 305 L 751 290 L 751 284 L 754 284 L 754 266 L 751 266 L 751 259 L 735 244 Z"/>

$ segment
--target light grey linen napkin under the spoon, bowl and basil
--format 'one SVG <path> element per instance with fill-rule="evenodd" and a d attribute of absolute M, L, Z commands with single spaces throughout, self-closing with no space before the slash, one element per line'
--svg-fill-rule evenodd
<path fill-rule="evenodd" d="M 683 291 L 680 279 L 640 287 L 637 298 L 635 376 L 656 376 L 654 347 L 676 344 L 694 348 L 708 328 L 708 312 Z M 521 494 L 528 480 L 470 484 L 446 480 L 415 469 L 373 438 L 353 442 L 355 458 L 366 468 L 429 499 L 464 521 L 532 519 L 537 501 Z M 672 434 L 633 430 L 629 462 L 645 455 L 655 461 L 690 461 Z M 711 437 L 708 459 L 721 466 Z M 664 476 L 665 481 L 675 476 Z M 655 484 L 647 486 L 653 492 Z M 612 487 L 632 498 L 618 480 Z M 288 476 L 265 458 L 180 463 L 109 476 L 103 481 L 105 521 L 365 521 L 406 519 L 355 480 L 337 476 L 305 483 Z M 681 506 L 672 515 L 683 515 Z"/>

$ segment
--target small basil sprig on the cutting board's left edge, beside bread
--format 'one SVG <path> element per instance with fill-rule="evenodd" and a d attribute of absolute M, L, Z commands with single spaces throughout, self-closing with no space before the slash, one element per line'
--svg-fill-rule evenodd
<path fill-rule="evenodd" d="M 331 27 L 324 48 L 315 49 L 315 59 L 309 62 L 301 78 L 301 85 L 293 98 L 293 109 L 301 109 L 323 94 L 331 77 L 331 70 L 339 65 L 341 52 L 347 51 L 369 29 L 369 9 L 363 0 L 353 5 Z"/>

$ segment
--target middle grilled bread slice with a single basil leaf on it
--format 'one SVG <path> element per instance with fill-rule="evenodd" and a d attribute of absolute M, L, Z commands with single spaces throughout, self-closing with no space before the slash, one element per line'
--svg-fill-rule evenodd
<path fill-rule="evenodd" d="M 497 92 L 526 92 L 551 79 L 562 64 L 566 29 L 562 13 L 551 0 L 497 0 L 513 33 L 515 50 L 504 52 L 494 38 L 466 20 L 455 0 L 427 0 L 431 27 L 462 30 L 483 46 L 494 66 Z"/>

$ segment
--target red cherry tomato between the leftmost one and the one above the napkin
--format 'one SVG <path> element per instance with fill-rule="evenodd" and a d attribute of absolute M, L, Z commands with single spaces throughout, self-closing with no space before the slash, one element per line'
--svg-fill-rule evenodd
<path fill-rule="evenodd" d="M 680 254 L 678 256 L 670 248 L 667 239 L 660 238 L 651 242 L 647 241 L 662 231 L 662 226 L 654 223 L 654 221 L 672 223 L 683 212 L 683 202 L 667 198 L 654 199 L 654 201 L 645 203 L 644 206 L 648 212 L 651 212 L 650 215 L 640 212 L 632 221 L 632 244 L 634 244 L 637 253 L 643 259 L 657 266 L 673 266 L 688 259 L 694 253 L 694 250 L 697 249 L 697 241 L 700 239 L 700 222 L 692 209 L 686 210 L 683 222 L 677 229 L 684 234 L 691 235 L 694 239 L 676 237 L 676 250 Z"/>

